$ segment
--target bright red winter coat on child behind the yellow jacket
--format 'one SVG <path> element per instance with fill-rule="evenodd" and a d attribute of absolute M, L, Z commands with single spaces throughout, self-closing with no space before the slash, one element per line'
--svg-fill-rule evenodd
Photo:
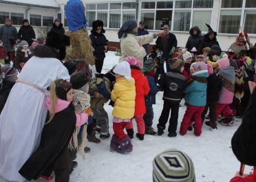
<path fill-rule="evenodd" d="M 140 69 L 131 68 L 131 76 L 135 80 L 136 99 L 134 115 L 143 115 L 146 113 L 145 96 L 149 94 L 150 87 L 147 77 L 143 76 Z"/>

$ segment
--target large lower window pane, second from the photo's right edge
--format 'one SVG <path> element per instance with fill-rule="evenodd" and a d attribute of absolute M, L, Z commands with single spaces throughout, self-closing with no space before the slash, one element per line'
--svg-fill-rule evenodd
<path fill-rule="evenodd" d="M 220 33 L 238 34 L 241 10 L 222 10 L 220 12 Z"/>

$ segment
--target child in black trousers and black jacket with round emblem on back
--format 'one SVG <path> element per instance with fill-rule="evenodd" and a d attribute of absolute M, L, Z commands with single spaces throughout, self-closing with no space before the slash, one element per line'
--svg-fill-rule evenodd
<path fill-rule="evenodd" d="M 161 78 L 158 81 L 158 84 L 164 90 L 164 96 L 162 98 L 164 100 L 164 106 L 159 118 L 158 135 L 162 135 L 164 133 L 165 125 L 167 124 L 171 110 L 168 136 L 176 137 L 180 101 L 182 100 L 183 92 L 186 89 L 185 77 L 182 75 L 182 71 L 184 70 L 184 61 L 178 59 L 170 62 L 170 69 L 171 71 L 161 75 Z"/>

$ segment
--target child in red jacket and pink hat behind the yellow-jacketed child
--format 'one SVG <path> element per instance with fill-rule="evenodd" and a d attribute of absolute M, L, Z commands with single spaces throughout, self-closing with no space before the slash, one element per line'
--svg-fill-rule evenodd
<path fill-rule="evenodd" d="M 135 80 L 136 87 L 136 99 L 135 99 L 135 113 L 134 118 L 137 123 L 138 133 L 136 137 L 143 140 L 145 135 L 145 122 L 143 115 L 146 113 L 145 96 L 149 93 L 150 87 L 147 77 L 143 75 L 141 71 L 141 62 L 138 58 L 133 56 L 127 56 L 126 61 L 131 65 L 131 76 Z M 127 135 L 130 138 L 134 137 L 134 126 L 132 122 L 127 125 Z"/>

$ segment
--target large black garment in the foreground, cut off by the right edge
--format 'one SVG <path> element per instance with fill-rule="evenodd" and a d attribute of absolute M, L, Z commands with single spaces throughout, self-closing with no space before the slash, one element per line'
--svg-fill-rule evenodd
<path fill-rule="evenodd" d="M 232 150 L 237 159 L 248 166 L 256 166 L 256 89 L 250 95 L 243 114 L 242 124 L 231 139 Z"/>

